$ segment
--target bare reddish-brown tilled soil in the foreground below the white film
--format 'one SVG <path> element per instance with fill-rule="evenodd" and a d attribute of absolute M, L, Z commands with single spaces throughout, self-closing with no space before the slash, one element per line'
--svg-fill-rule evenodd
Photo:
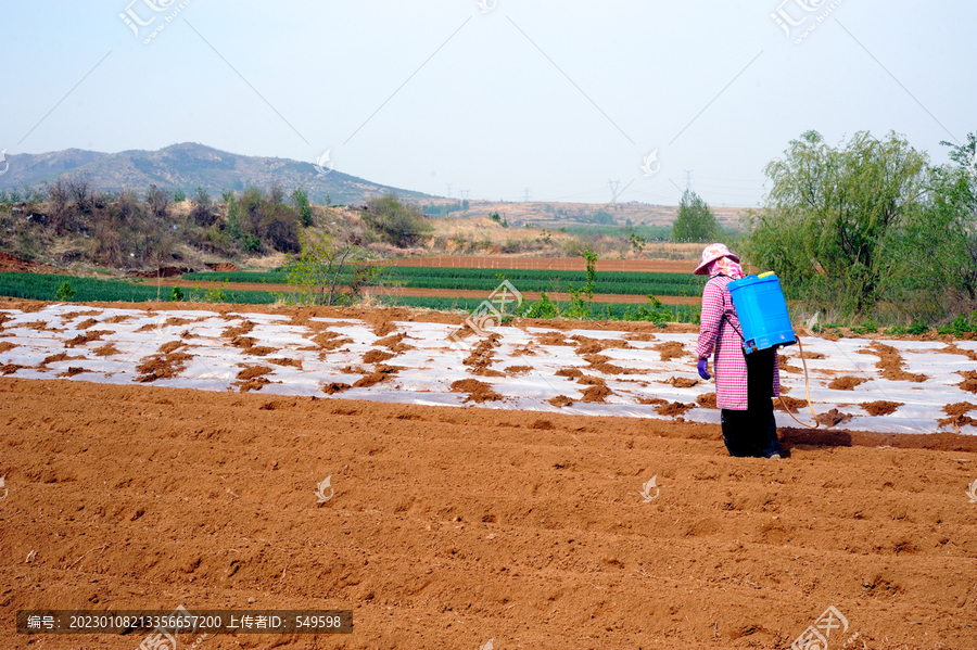
<path fill-rule="evenodd" d="M 179 604 L 354 612 L 351 637 L 207 649 L 786 648 L 828 606 L 849 622 L 833 648 L 975 647 L 973 437 L 782 430 L 776 462 L 689 423 L 17 379 L 0 394 L 4 648 L 28 647 L 21 609 Z"/>

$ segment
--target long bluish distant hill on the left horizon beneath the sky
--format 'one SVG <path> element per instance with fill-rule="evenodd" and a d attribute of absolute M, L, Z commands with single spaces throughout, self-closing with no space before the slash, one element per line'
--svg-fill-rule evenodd
<path fill-rule="evenodd" d="M 332 203 L 363 203 L 370 196 L 394 192 L 405 199 L 428 194 L 383 186 L 341 171 L 320 176 L 310 163 L 288 158 L 245 156 L 186 142 L 160 151 L 101 153 L 66 149 L 39 154 L 7 154 L 9 170 L 0 176 L 0 190 L 21 189 L 51 182 L 59 176 L 85 174 L 96 188 L 106 191 L 129 189 L 143 192 L 151 184 L 181 189 L 189 196 L 198 186 L 217 197 L 223 190 L 249 186 L 267 189 L 304 187 L 309 197 Z"/>

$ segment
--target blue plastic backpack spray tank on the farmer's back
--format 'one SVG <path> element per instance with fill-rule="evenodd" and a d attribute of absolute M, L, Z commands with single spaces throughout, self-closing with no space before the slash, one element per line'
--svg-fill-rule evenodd
<path fill-rule="evenodd" d="M 733 280 L 728 286 L 733 307 L 743 327 L 746 354 L 797 342 L 781 281 L 773 271 Z"/>

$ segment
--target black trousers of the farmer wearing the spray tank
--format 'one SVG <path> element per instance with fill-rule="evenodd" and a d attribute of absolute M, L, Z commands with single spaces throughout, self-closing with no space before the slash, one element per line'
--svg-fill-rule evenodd
<path fill-rule="evenodd" d="M 771 390 L 776 349 L 761 349 L 748 354 L 747 410 L 724 408 L 721 411 L 723 442 L 729 456 L 770 458 L 781 453 L 777 423 L 773 415 Z"/>

